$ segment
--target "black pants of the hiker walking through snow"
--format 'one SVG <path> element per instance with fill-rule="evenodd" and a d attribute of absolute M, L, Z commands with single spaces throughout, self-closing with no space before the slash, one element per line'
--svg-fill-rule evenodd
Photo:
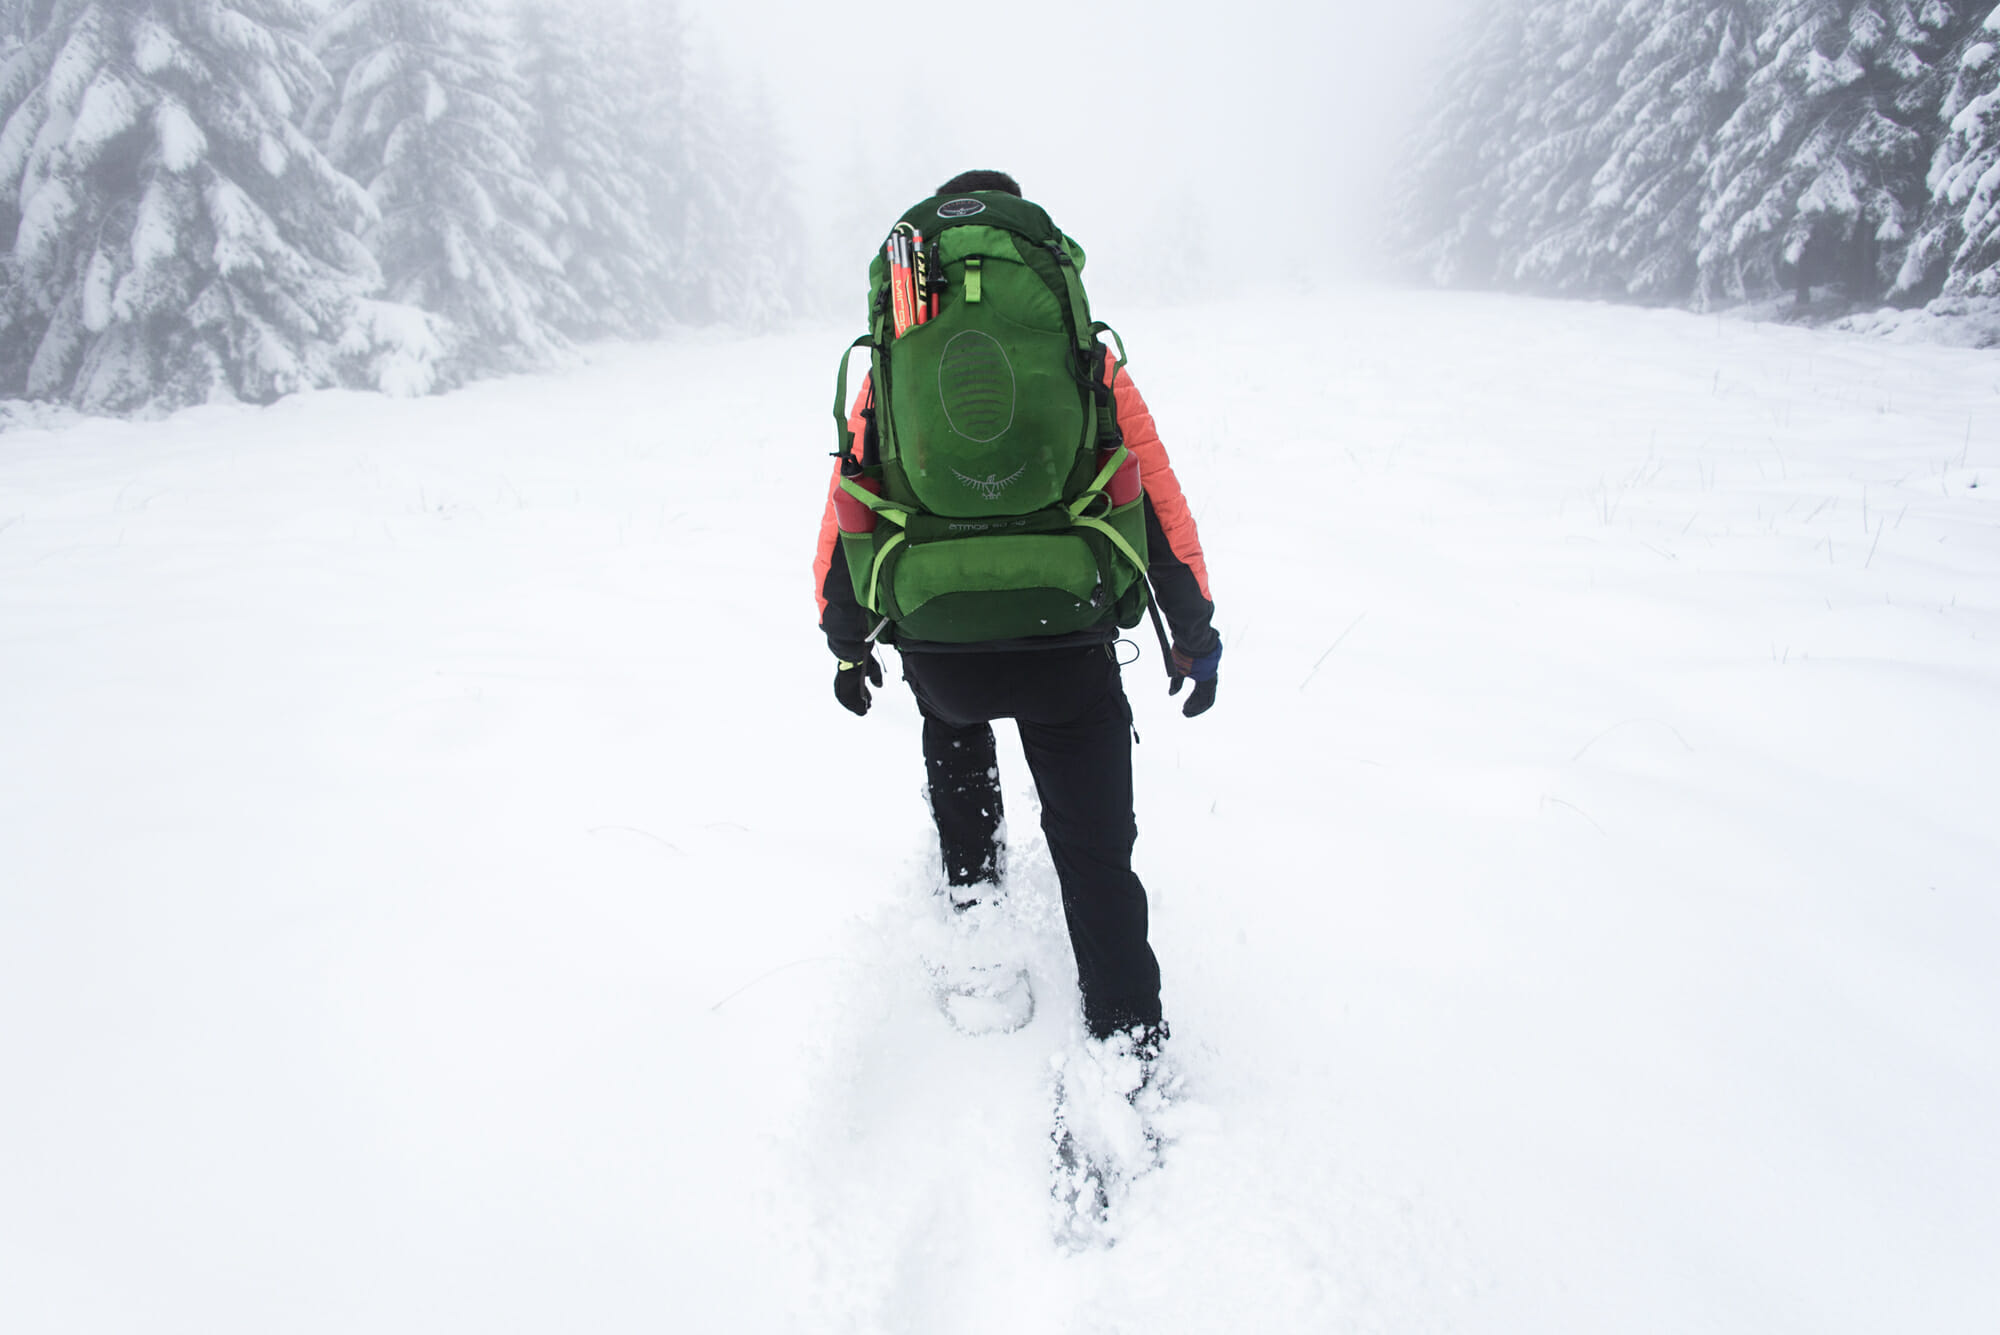
<path fill-rule="evenodd" d="M 1132 709 L 1110 646 L 904 654 L 902 675 L 924 713 L 924 769 L 946 879 L 998 879 L 1000 771 L 990 723 L 1010 717 L 1042 795 L 1084 1023 L 1096 1037 L 1160 1023 L 1146 887 L 1132 873 Z"/>

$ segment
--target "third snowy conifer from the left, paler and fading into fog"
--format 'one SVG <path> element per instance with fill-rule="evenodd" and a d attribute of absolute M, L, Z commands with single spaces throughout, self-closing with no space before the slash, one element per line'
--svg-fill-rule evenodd
<path fill-rule="evenodd" d="M 638 136 L 622 132 L 632 52 L 604 20 L 602 6 L 576 0 L 520 2 L 534 166 L 562 206 L 554 252 L 576 292 L 556 320 L 576 338 L 648 334 L 666 320 L 666 246 L 650 218 Z"/>

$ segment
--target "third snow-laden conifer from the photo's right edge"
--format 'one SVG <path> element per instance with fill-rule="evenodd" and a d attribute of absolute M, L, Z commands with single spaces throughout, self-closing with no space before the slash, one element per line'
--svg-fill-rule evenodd
<path fill-rule="evenodd" d="M 1608 110 L 1586 232 L 1630 296 L 1694 292 L 1702 182 L 1714 136 L 1742 102 L 1756 36 L 1750 0 L 1628 0 L 1640 34 Z"/>

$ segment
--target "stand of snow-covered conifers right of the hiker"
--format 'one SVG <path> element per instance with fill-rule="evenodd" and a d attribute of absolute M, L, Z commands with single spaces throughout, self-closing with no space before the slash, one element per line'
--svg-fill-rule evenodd
<path fill-rule="evenodd" d="M 1394 230 L 1446 286 L 1696 308 L 2000 296 L 2000 6 L 1488 0 Z"/>

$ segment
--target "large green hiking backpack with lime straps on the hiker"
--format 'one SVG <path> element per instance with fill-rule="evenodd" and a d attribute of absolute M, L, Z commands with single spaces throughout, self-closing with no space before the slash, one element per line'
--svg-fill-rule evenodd
<path fill-rule="evenodd" d="M 1040 206 L 990 190 L 924 200 L 890 236 L 914 254 L 916 308 L 908 284 L 892 290 L 904 272 L 884 248 L 868 270 L 870 332 L 834 388 L 836 500 L 860 518 L 840 534 L 856 598 L 878 632 L 940 644 L 1138 626 L 1144 496 L 1112 504 L 1128 456 L 1082 248 Z M 858 460 L 854 348 L 870 350 L 872 376 Z"/>

